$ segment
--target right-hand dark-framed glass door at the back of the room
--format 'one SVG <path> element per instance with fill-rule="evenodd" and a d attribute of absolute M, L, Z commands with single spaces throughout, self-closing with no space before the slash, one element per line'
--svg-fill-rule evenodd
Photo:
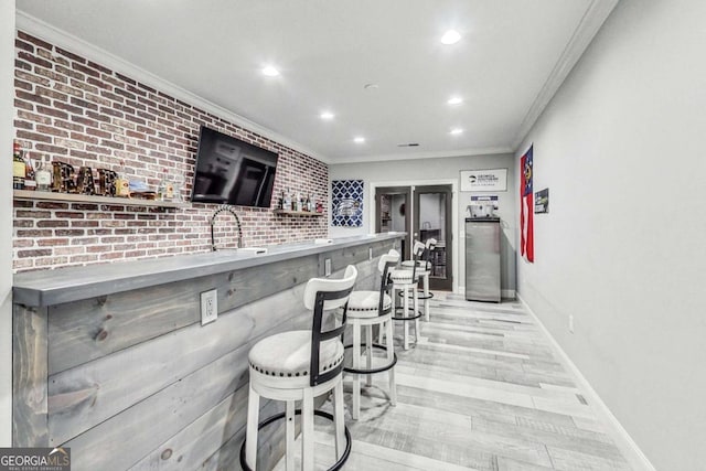
<path fill-rule="evenodd" d="M 453 290 L 453 231 L 451 221 L 451 185 L 415 186 L 415 239 L 437 240 L 431 253 L 431 274 L 429 288 L 436 290 Z"/>

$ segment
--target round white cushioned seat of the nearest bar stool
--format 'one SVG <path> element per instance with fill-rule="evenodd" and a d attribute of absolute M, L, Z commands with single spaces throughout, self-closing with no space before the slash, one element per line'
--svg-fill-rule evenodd
<path fill-rule="evenodd" d="M 319 371 L 327 372 L 343 361 L 343 342 L 332 339 L 321 343 Z M 311 331 L 281 332 L 260 340 L 248 354 L 258 373 L 279 376 L 308 376 L 311 360 Z M 307 378 L 308 381 L 308 378 Z"/>

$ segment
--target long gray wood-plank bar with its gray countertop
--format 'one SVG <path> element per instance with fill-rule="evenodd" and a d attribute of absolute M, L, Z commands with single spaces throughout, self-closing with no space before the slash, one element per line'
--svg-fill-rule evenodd
<path fill-rule="evenodd" d="M 310 329 L 312 277 L 353 264 L 356 289 L 372 289 L 376 258 L 402 237 L 17 274 L 13 446 L 69 447 L 74 471 L 237 469 L 250 346 Z M 212 289 L 218 318 L 202 325 L 201 292 Z M 260 459 L 280 456 L 279 441 Z"/>

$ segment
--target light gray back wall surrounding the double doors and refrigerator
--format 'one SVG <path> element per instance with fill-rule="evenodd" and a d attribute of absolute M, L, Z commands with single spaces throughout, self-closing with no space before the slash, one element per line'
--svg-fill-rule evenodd
<path fill-rule="evenodd" d="M 375 232 L 375 227 L 371 225 L 371 215 L 375 213 L 375 201 L 370 191 L 373 185 L 422 185 L 453 181 L 458 186 L 461 170 L 512 169 L 514 165 L 514 158 L 511 154 L 331 164 L 329 165 L 329 178 L 331 180 L 364 181 L 365 201 L 363 202 L 363 227 L 349 228 L 330 226 L 329 237 L 345 237 Z M 507 191 L 489 193 L 498 194 L 499 196 L 498 214 L 503 220 L 503 233 L 506 240 L 506 244 L 503 245 L 502 268 L 502 289 L 504 296 L 514 296 L 515 290 L 514 234 L 517 226 L 515 210 L 517 190 L 515 186 L 514 173 L 511 170 L 507 172 Z M 457 290 L 462 290 L 464 285 L 463 244 L 466 233 L 463 218 L 466 217 L 466 206 L 471 202 L 471 194 L 472 193 L 468 192 L 459 192 L 456 195 L 456 205 L 459 214 L 458 224 L 453 227 L 453 270 L 454 289 Z"/>

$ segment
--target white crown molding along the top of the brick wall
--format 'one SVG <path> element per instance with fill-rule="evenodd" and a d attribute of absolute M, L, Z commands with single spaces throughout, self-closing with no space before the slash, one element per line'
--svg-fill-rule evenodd
<path fill-rule="evenodd" d="M 117 55 L 114 55 L 94 44 L 90 44 L 77 36 L 74 36 L 73 34 L 67 33 L 66 31 L 60 30 L 42 20 L 26 14 L 21 10 L 15 10 L 15 29 L 36 36 L 56 46 L 71 51 L 72 53 L 81 55 L 82 57 L 86 57 L 89 61 L 93 61 L 107 68 L 110 68 L 114 72 L 118 72 L 139 83 L 163 92 L 167 95 L 174 97 L 181 101 L 189 103 L 195 108 L 200 108 L 214 116 L 217 116 L 218 118 L 225 119 L 236 126 L 247 129 L 248 131 L 255 132 L 267 139 L 271 139 L 272 141 L 281 146 L 286 146 L 324 163 L 330 163 L 329 158 L 314 152 L 313 150 L 307 148 L 306 146 L 302 146 L 297 141 L 281 136 L 272 131 L 271 129 L 258 125 L 257 122 L 250 121 L 249 119 L 237 115 L 226 108 L 223 108 L 222 106 L 208 101 L 200 97 L 199 95 L 195 95 L 180 87 L 179 85 L 174 85 L 171 82 L 152 74 L 151 72 L 138 67 L 137 65 Z"/>

